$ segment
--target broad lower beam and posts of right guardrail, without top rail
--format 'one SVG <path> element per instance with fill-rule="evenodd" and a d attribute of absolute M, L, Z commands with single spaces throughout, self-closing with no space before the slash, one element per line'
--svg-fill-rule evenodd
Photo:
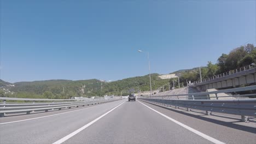
<path fill-rule="evenodd" d="M 140 100 L 167 106 L 185 107 L 187 111 L 191 109 L 206 111 L 207 115 L 211 112 L 229 113 L 241 115 L 241 121 L 248 121 L 248 117 L 256 117 L 256 99 L 236 99 L 236 100 L 171 100 L 171 99 L 148 99 Z"/>

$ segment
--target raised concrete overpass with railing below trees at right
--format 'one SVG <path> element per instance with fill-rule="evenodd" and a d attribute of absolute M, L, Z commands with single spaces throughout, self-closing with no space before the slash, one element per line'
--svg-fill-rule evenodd
<path fill-rule="evenodd" d="M 256 83 L 256 68 L 255 65 L 247 65 L 235 70 L 230 70 L 226 73 L 214 75 L 194 82 L 190 87 L 196 87 L 200 91 L 206 91 L 211 88 L 228 88 L 241 86 L 246 84 Z"/>

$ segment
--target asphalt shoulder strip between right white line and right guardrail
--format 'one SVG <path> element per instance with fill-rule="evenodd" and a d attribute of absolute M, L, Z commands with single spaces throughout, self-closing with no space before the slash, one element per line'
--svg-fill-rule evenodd
<path fill-rule="evenodd" d="M 216 120 L 212 118 L 214 116 L 206 116 L 203 113 L 187 112 L 187 110 L 177 111 L 174 108 L 164 109 L 143 101 L 142 103 L 224 143 L 255 143 L 256 141 L 256 123 L 254 122 L 245 123 L 240 122 L 240 119 L 222 117 L 218 117 Z M 243 125 L 238 123 L 243 123 Z"/>

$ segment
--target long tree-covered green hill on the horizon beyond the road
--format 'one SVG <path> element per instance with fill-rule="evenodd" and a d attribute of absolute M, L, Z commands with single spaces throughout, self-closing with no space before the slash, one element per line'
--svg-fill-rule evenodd
<path fill-rule="evenodd" d="M 152 74 L 152 89 L 166 85 L 169 80 L 162 80 L 159 74 Z M 70 98 L 91 97 L 103 95 L 121 95 L 121 91 L 149 91 L 149 75 L 136 76 L 123 80 L 104 82 L 91 80 L 46 80 L 32 82 L 15 82 L 15 87 L 9 90 L 15 92 L 15 97 L 22 98 Z M 126 93 L 128 94 L 128 93 Z M 7 95 L 14 97 L 14 95 Z"/>

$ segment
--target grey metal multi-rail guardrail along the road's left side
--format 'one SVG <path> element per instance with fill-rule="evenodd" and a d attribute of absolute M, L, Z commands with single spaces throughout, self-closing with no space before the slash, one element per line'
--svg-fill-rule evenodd
<path fill-rule="evenodd" d="M 2 100 L 24 100 L 22 98 L 2 98 Z M 27 100 L 27 99 L 26 99 Z M 28 99 L 31 101 L 42 101 L 42 99 Z M 49 100 L 49 99 L 44 99 Z M 50 99 L 51 101 L 52 99 Z M 5 113 L 20 113 L 26 112 L 30 114 L 34 111 L 45 111 L 48 112 L 49 110 L 61 110 L 61 109 L 71 109 L 72 107 L 79 107 L 85 105 L 94 105 L 94 104 L 101 104 L 101 103 L 108 103 L 110 101 L 121 100 L 120 98 L 113 98 L 113 99 L 99 99 L 99 100 L 85 100 L 73 103 L 17 103 L 17 104 L 7 104 L 3 103 L 0 104 L 0 117 L 4 117 Z M 62 101 L 55 99 L 54 101 Z"/>

